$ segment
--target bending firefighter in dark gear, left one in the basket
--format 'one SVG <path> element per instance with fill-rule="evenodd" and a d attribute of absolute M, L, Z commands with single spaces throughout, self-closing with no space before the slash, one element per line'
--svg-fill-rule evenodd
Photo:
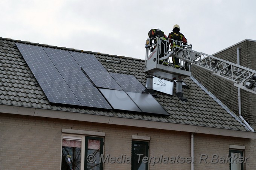
<path fill-rule="evenodd" d="M 159 29 L 152 29 L 152 30 L 150 30 L 148 32 L 148 36 L 149 36 L 149 38 L 152 38 L 152 39 L 154 39 L 156 36 L 160 36 L 162 38 L 161 53 L 160 53 L 159 58 L 163 57 L 164 56 L 164 52 L 165 51 L 167 52 L 167 49 L 168 49 L 168 41 L 163 41 L 163 40 L 167 40 L 168 37 L 165 35 L 165 33 L 163 31 L 161 31 Z M 159 64 L 162 64 L 162 63 L 163 63 L 163 60 L 159 61 Z"/>

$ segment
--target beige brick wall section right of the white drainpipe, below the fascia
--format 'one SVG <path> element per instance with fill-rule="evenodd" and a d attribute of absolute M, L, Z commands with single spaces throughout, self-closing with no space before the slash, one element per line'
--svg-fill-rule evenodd
<path fill-rule="evenodd" d="M 220 157 L 227 158 L 227 155 L 229 154 L 229 145 L 245 146 L 244 157 L 249 157 L 244 165 L 245 169 L 255 169 L 255 140 L 206 134 L 194 134 L 194 169 L 228 170 L 229 163 L 221 163 Z M 204 155 L 202 154 L 206 154 L 208 156 L 206 159 L 207 163 L 205 163 L 203 160 L 201 160 L 200 163 L 200 157 L 204 158 Z M 215 155 L 218 155 L 218 163 L 208 163 L 211 161 L 216 162 Z"/>

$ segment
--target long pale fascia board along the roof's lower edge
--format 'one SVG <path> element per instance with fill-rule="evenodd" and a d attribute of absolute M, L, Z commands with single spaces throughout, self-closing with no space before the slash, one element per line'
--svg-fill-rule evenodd
<path fill-rule="evenodd" d="M 34 114 L 32 114 L 33 110 L 34 110 Z M 131 118 L 122 118 L 122 117 L 105 116 L 105 115 L 94 115 L 91 113 L 77 113 L 77 112 L 69 112 L 69 111 L 61 111 L 61 110 L 39 109 L 39 108 L 30 108 L 30 107 L 12 106 L 12 105 L 1 105 L 0 111 L 2 113 L 11 113 L 16 115 L 29 115 L 29 116 L 39 116 L 39 117 L 46 117 L 46 118 L 95 122 L 95 123 L 111 124 L 111 125 L 124 125 L 124 126 L 131 126 L 131 127 L 153 128 L 153 129 L 161 129 L 161 130 L 182 131 L 182 132 L 188 132 L 188 133 L 202 133 L 202 134 L 256 139 L 256 132 L 251 132 L 251 131 L 204 127 L 204 126 L 198 126 L 198 125 L 177 124 L 172 122 L 150 121 L 150 120 L 131 119 Z"/>

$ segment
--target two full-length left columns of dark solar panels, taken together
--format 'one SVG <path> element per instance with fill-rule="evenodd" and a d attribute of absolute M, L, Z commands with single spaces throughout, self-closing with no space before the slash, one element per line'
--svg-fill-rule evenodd
<path fill-rule="evenodd" d="M 69 51 L 16 45 L 50 102 L 112 109 Z"/>

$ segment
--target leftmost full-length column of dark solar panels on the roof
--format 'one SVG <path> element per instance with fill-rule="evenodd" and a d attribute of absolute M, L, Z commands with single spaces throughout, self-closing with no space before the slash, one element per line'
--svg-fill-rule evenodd
<path fill-rule="evenodd" d="M 18 43 L 17 47 L 50 102 L 79 105 L 79 101 L 42 47 Z"/>

